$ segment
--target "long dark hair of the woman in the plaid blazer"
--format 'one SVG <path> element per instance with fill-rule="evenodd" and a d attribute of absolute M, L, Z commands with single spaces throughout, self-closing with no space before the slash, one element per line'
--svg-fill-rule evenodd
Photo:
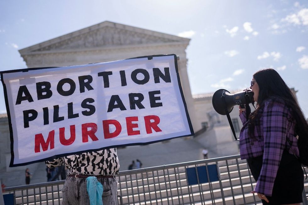
<path fill-rule="evenodd" d="M 283 81 L 281 76 L 274 69 L 267 68 L 257 71 L 253 74 L 253 78 L 259 85 L 259 96 L 257 99 L 258 107 L 250 115 L 249 134 L 253 136 L 256 122 L 261 117 L 259 110 L 263 109 L 264 103 L 269 98 L 278 98 L 284 101 L 285 105 L 290 109 L 291 114 L 296 121 L 295 132 L 299 136 L 298 146 L 306 144 L 308 136 L 308 123 L 304 117 L 300 106 L 295 99 L 292 91 L 287 84 Z"/>

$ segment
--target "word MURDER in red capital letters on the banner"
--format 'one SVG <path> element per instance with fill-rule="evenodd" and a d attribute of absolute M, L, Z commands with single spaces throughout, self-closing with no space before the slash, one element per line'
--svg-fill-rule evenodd
<path fill-rule="evenodd" d="M 135 121 L 138 121 L 138 117 L 137 116 L 126 117 L 125 120 L 126 120 L 127 135 L 139 135 L 140 134 L 139 130 L 133 130 L 133 128 L 139 127 L 138 123 L 133 123 Z M 146 133 L 151 134 L 152 129 L 155 132 L 162 132 L 162 130 L 158 127 L 159 122 L 160 122 L 160 119 L 156 115 L 144 116 Z M 114 132 L 110 132 L 109 125 L 115 126 Z M 102 127 L 103 127 L 105 139 L 115 138 L 122 131 L 122 126 L 120 122 L 117 120 L 103 120 Z M 71 145 L 75 141 L 75 138 L 76 138 L 75 125 L 71 125 L 69 126 L 69 128 L 70 128 L 70 138 L 68 139 L 65 138 L 65 134 L 64 134 L 65 127 L 59 128 L 59 141 L 62 145 L 66 145 L 66 146 Z M 91 138 L 92 141 L 97 141 L 98 138 L 95 135 L 96 131 L 97 131 L 96 123 L 82 124 L 81 125 L 82 142 L 87 143 L 89 141 L 89 137 Z M 36 134 L 35 135 L 35 146 L 34 146 L 35 153 L 41 152 L 41 147 L 42 147 L 43 152 L 47 151 L 48 147 L 50 147 L 50 149 L 53 149 L 55 146 L 54 138 L 55 138 L 54 130 L 49 132 L 46 141 L 42 133 Z"/>

